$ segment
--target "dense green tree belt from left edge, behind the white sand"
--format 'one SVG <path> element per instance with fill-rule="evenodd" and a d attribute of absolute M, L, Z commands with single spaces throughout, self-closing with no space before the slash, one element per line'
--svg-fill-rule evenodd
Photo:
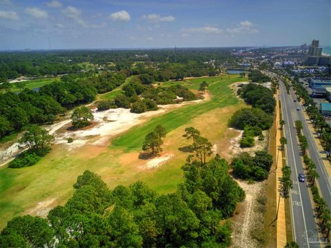
<path fill-rule="evenodd" d="M 90 103 L 97 92 L 113 90 L 126 76 L 121 73 L 89 76 L 77 74 L 61 77 L 61 81 L 44 85 L 39 92 L 24 89 L 19 94 L 0 93 L 0 138 L 19 132 L 29 124 L 53 123 L 59 114 L 81 104 Z"/>

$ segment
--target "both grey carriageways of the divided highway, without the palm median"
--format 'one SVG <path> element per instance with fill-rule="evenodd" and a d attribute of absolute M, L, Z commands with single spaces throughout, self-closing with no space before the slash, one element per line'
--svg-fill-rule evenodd
<path fill-rule="evenodd" d="M 276 74 L 266 72 L 274 79 L 278 79 Z M 298 180 L 299 173 L 303 173 L 303 163 L 301 161 L 301 155 L 299 152 L 299 143 L 297 141 L 296 130 L 294 122 L 300 120 L 303 122 L 303 134 L 307 137 L 309 145 L 309 153 L 317 165 L 317 172 L 319 172 L 320 178 L 318 180 L 321 188 L 321 196 L 325 199 L 330 208 L 330 178 L 328 178 L 325 167 L 321 162 L 319 156 L 319 150 L 317 149 L 312 134 L 308 130 L 308 124 L 302 114 L 303 108 L 299 103 L 294 102 L 296 96 L 294 92 L 290 90 L 290 94 L 287 94 L 285 86 L 281 80 L 279 80 L 280 95 L 282 107 L 282 118 L 285 121 L 284 134 L 287 138 L 286 145 L 286 161 L 292 170 L 293 189 L 290 192 L 290 210 L 292 218 L 292 231 L 294 240 L 299 244 L 299 247 L 321 247 L 321 238 L 319 238 L 318 227 L 314 219 L 314 209 L 312 207 L 312 200 L 309 194 L 309 188 L 307 183 L 300 183 Z M 299 107 L 299 111 L 297 108 Z"/>

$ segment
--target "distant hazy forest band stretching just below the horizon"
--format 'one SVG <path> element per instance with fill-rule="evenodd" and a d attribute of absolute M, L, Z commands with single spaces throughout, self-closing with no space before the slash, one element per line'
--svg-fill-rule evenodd
<path fill-rule="evenodd" d="M 147 54 L 148 56 L 141 56 Z M 17 76 L 71 74 L 82 70 L 80 63 L 103 65 L 105 70 L 129 70 L 141 74 L 132 64 L 139 61 L 154 66 L 154 79 L 182 79 L 184 76 L 214 75 L 214 65 L 237 61 L 228 48 L 178 48 L 157 50 L 75 50 L 39 52 L 1 52 L 0 82 Z M 214 61 L 214 63 L 205 63 Z M 175 70 L 174 70 L 175 69 Z"/>

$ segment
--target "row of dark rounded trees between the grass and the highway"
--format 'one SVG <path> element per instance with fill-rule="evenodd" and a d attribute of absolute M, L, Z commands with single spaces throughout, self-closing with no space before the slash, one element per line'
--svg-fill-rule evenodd
<path fill-rule="evenodd" d="M 241 147 L 254 146 L 254 137 L 263 140 L 262 130 L 272 126 L 272 113 L 276 107 L 273 93 L 266 87 L 250 83 L 237 92 L 252 108 L 244 107 L 234 112 L 228 125 L 243 130 Z M 272 165 L 272 156 L 265 151 L 255 152 L 255 156 L 243 152 L 232 161 L 233 174 L 239 178 L 265 180 Z"/>

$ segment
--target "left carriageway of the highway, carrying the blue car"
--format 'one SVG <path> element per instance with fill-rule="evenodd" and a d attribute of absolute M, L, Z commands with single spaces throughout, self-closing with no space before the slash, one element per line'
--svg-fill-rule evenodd
<path fill-rule="evenodd" d="M 308 185 L 306 182 L 300 183 L 298 180 L 299 173 L 303 173 L 303 163 L 294 127 L 294 122 L 299 120 L 299 111 L 297 111 L 297 104 L 294 103 L 292 96 L 286 93 L 286 89 L 281 81 L 279 87 L 282 118 L 286 123 L 284 134 L 288 140 L 286 161 L 292 170 L 293 189 L 290 193 L 292 203 L 290 208 L 294 240 L 299 244 L 299 247 L 320 247 Z"/>

